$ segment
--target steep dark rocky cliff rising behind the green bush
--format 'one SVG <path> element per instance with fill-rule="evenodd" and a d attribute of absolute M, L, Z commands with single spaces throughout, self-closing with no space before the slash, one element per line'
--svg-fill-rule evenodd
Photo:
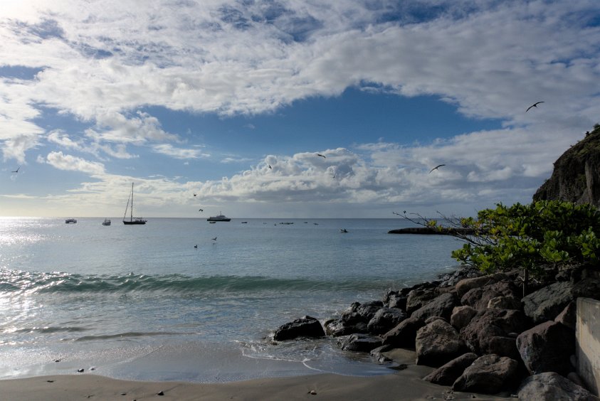
<path fill-rule="evenodd" d="M 533 200 L 590 203 L 600 207 L 600 127 L 554 162 L 552 176 L 536 191 Z"/>

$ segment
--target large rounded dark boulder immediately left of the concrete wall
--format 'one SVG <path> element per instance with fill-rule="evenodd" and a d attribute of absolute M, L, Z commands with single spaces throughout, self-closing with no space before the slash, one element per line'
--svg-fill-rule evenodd
<path fill-rule="evenodd" d="M 517 348 L 530 374 L 556 372 L 566 376 L 575 352 L 575 332 L 555 321 L 546 321 L 517 337 Z"/>

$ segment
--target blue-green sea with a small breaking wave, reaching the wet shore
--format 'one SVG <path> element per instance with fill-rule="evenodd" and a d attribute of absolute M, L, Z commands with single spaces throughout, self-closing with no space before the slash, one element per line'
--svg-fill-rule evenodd
<path fill-rule="evenodd" d="M 388 234 L 413 225 L 401 219 L 77 220 L 0 218 L 0 379 L 389 373 L 369 355 L 340 351 L 335 338 L 269 336 L 293 319 L 325 321 L 353 301 L 452 272 L 461 246 Z"/>

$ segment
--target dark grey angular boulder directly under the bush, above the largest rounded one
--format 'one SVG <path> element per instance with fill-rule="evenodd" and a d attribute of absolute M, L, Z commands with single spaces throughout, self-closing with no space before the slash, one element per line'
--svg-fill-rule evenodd
<path fill-rule="evenodd" d="M 524 296 L 523 310 L 535 324 L 554 320 L 569 302 L 573 301 L 571 282 L 557 282 Z"/>

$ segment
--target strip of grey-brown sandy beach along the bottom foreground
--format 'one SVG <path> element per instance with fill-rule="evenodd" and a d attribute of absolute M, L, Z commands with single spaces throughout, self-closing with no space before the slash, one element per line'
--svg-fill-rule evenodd
<path fill-rule="evenodd" d="M 421 378 L 432 368 L 411 364 L 411 351 L 388 353 L 404 370 L 370 377 L 317 374 L 230 383 L 116 380 L 93 373 L 0 380 L 0 399 L 69 400 L 505 400 L 453 392 Z"/>

